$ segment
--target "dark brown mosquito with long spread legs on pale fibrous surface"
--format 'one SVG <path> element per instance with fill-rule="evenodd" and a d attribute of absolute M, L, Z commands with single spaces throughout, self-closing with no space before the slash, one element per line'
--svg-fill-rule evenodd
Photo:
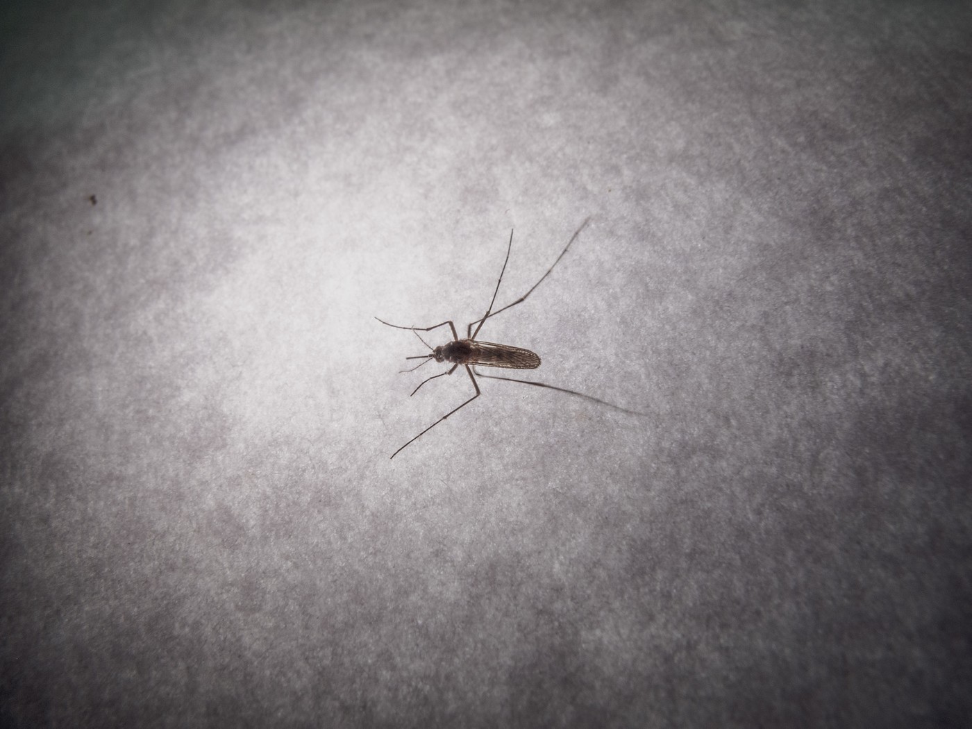
<path fill-rule="evenodd" d="M 612 407 L 615 410 L 620 410 L 621 412 L 626 412 L 631 415 L 645 414 L 637 410 L 629 410 L 625 407 L 620 407 L 618 405 L 607 402 L 603 399 L 594 398 L 590 395 L 584 395 L 583 393 L 574 392 L 573 390 L 567 390 L 562 387 L 554 387 L 553 385 L 546 385 L 542 382 L 533 382 L 531 380 L 518 380 L 513 377 L 500 377 L 498 375 L 483 374 L 482 372 L 475 369 L 476 366 L 502 367 L 504 369 L 537 369 L 537 367 L 540 365 L 540 358 L 538 357 L 537 354 L 531 352 L 529 349 L 522 349 L 521 347 L 513 347 L 510 346 L 509 344 L 497 344 L 496 342 L 486 342 L 480 339 L 476 339 L 476 336 L 479 334 L 479 330 L 482 329 L 482 326 L 483 324 L 486 323 L 487 319 L 490 319 L 491 317 L 495 317 L 497 314 L 505 311 L 506 309 L 510 309 L 519 303 L 523 303 L 524 301 L 527 300 L 527 296 L 534 293 L 534 290 L 540 284 L 543 283 L 543 280 L 550 275 L 550 272 L 553 271 L 557 263 L 559 263 L 560 260 L 564 258 L 567 252 L 571 249 L 571 246 L 573 245 L 573 241 L 577 239 L 577 236 L 580 235 L 580 231 L 587 226 L 590 220 L 591 220 L 590 218 L 585 219 L 584 222 L 580 224 L 580 227 L 578 227 L 576 231 L 574 231 L 573 235 L 571 236 L 571 240 L 568 241 L 567 246 L 565 246 L 564 250 L 561 251 L 560 256 L 557 257 L 557 260 L 553 261 L 553 265 L 551 265 L 547 269 L 547 272 L 540 277 L 540 280 L 536 284 L 534 284 L 533 287 L 531 287 L 530 291 L 520 296 L 512 303 L 506 304 L 505 306 L 503 306 L 502 309 L 497 309 L 496 311 L 493 311 L 493 305 L 496 303 L 496 296 L 497 294 L 500 293 L 500 284 L 503 283 L 503 273 L 505 273 L 506 271 L 506 263 L 509 262 L 509 252 L 513 248 L 513 231 L 510 230 L 509 243 L 506 244 L 506 258 L 505 260 L 503 260 L 503 268 L 500 270 L 500 278 L 496 282 L 496 289 L 493 290 L 493 298 L 490 300 L 489 306 L 486 309 L 486 313 L 482 316 L 482 318 L 469 323 L 469 326 L 466 328 L 465 339 L 459 338 L 459 334 L 456 333 L 456 326 L 452 323 L 451 320 L 442 322 L 441 324 L 436 324 L 433 327 L 400 327 L 397 324 L 389 324 L 384 319 L 379 319 L 378 317 L 375 317 L 375 319 L 377 319 L 379 322 L 384 324 L 386 327 L 394 327 L 397 330 L 411 331 L 412 333 L 415 334 L 415 336 L 419 338 L 419 340 L 421 340 L 423 344 L 426 345 L 426 347 L 428 347 L 428 349 L 431 352 L 431 354 L 428 355 L 417 355 L 415 357 L 406 357 L 405 358 L 406 360 L 422 360 L 422 362 L 416 364 L 411 369 L 402 369 L 401 370 L 402 372 L 413 372 L 423 364 L 427 364 L 433 360 L 437 363 L 445 362 L 445 363 L 452 364 L 452 366 L 446 371 L 439 372 L 438 374 L 434 374 L 432 377 L 429 377 L 423 380 L 422 382 L 420 382 L 419 386 L 412 391 L 412 394 L 410 396 L 408 396 L 409 398 L 412 397 L 412 395 L 415 395 L 415 393 L 417 393 L 419 390 L 421 390 L 422 386 L 425 385 L 427 382 L 434 380 L 436 377 L 444 377 L 447 374 L 452 374 L 453 372 L 456 371 L 457 367 L 459 367 L 460 364 L 462 364 L 466 368 L 466 372 L 469 374 L 469 380 L 472 382 L 472 388 L 476 392 L 475 395 L 473 395 L 471 398 L 463 402 L 461 405 L 459 405 L 459 407 L 453 408 L 445 415 L 443 415 L 441 418 L 436 420 L 431 426 L 429 426 L 424 431 L 422 431 L 422 433 L 416 435 L 407 443 L 402 445 L 399 448 L 399 450 L 397 450 L 395 453 L 392 454 L 392 458 L 398 456 L 399 453 L 401 453 L 401 451 L 403 451 L 405 448 L 407 448 L 409 445 L 414 443 L 423 435 L 429 433 L 429 431 L 431 431 L 435 426 L 437 426 L 443 420 L 448 418 L 450 415 L 453 415 L 459 410 L 462 410 L 464 407 L 466 407 L 469 404 L 469 402 L 478 398 L 481 393 L 479 392 L 479 384 L 476 382 L 477 376 L 485 377 L 491 380 L 506 380 L 507 382 L 520 382 L 524 385 L 533 385 L 534 387 L 544 387 L 547 388 L 548 390 L 556 390 L 557 392 L 573 395 L 576 396 L 577 398 L 589 399 L 593 402 L 598 402 L 602 405 L 607 405 L 608 407 Z M 476 327 L 474 331 L 472 330 L 473 325 L 475 325 Z M 449 330 L 452 332 L 452 341 L 448 342 L 447 344 L 442 344 L 438 347 L 434 347 L 434 348 L 431 347 L 429 343 L 422 338 L 422 335 L 419 334 L 420 331 L 432 331 L 432 330 L 437 330 L 439 327 L 445 327 L 445 326 L 448 326 Z"/>

